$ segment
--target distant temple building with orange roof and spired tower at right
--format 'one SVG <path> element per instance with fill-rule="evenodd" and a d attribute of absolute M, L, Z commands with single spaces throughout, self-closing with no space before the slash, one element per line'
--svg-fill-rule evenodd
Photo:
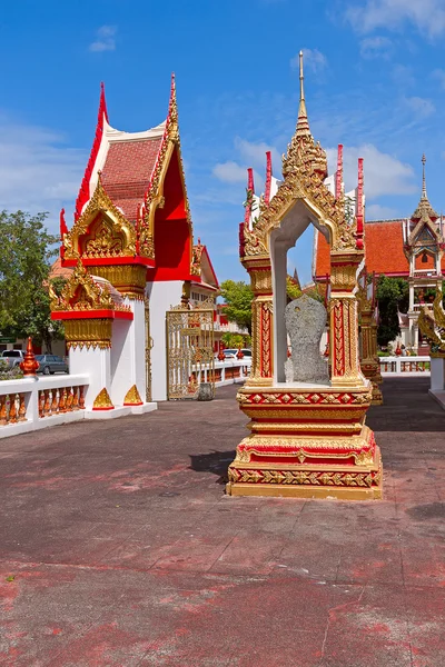
<path fill-rule="evenodd" d="M 397 342 L 415 352 L 427 355 L 429 346 L 418 330 L 418 315 L 425 302 L 433 302 L 434 292 L 445 279 L 445 222 L 429 203 L 426 192 L 425 156 L 419 203 L 408 219 L 366 220 L 366 270 L 376 277 L 405 278 L 409 283 L 409 308 L 399 312 L 400 338 Z M 330 276 L 329 247 L 325 237 L 315 231 L 313 276 L 326 283 Z"/>

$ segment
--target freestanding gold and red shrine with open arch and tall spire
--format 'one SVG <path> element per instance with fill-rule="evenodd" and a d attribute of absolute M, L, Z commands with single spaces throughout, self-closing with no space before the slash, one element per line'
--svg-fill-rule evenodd
<path fill-rule="evenodd" d="M 300 53 L 296 132 L 283 158 L 276 195 L 240 226 L 240 259 L 250 276 L 251 376 L 238 392 L 249 436 L 229 466 L 229 495 L 382 498 L 382 460 L 365 425 L 373 387 L 358 360 L 358 275 L 364 265 L 363 216 L 327 189 L 325 151 L 309 129 Z M 315 225 L 330 246 L 330 380 L 285 381 L 286 255 Z"/>

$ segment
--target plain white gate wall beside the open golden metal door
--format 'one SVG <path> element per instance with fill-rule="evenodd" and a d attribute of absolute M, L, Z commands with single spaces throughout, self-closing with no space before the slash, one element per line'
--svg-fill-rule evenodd
<path fill-rule="evenodd" d="M 152 400 L 167 400 L 167 341 L 166 312 L 178 306 L 182 296 L 182 280 L 147 282 L 150 303 L 151 395 Z"/>

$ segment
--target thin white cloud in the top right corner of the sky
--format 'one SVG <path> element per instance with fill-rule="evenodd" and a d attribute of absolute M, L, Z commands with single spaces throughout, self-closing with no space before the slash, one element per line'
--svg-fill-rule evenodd
<path fill-rule="evenodd" d="M 398 30 L 407 22 L 429 38 L 445 32 L 444 0 L 356 0 L 347 8 L 346 19 L 360 33 Z"/>

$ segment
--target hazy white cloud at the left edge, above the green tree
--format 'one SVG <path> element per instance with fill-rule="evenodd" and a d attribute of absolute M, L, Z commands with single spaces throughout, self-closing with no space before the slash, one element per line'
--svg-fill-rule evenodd
<path fill-rule="evenodd" d="M 67 148 L 63 141 L 57 132 L 0 115 L 1 207 L 49 211 L 51 231 L 58 229 L 62 206 L 68 203 L 72 210 L 87 163 L 85 151 Z"/>

